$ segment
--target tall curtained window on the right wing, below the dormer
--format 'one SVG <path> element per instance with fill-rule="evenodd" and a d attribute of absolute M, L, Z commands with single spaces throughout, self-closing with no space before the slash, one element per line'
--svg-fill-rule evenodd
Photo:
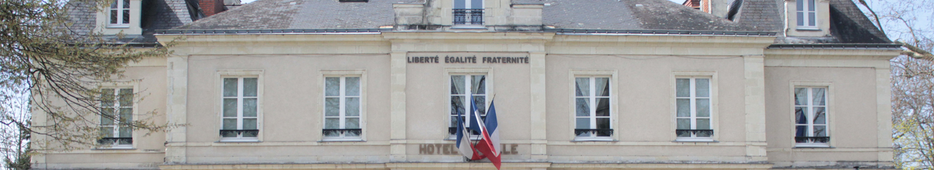
<path fill-rule="evenodd" d="M 795 88 L 796 147 L 828 147 L 827 88 Z"/>

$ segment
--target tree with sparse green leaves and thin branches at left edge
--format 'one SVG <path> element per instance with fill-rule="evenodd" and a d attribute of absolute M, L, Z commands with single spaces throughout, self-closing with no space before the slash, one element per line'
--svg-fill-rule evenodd
<path fill-rule="evenodd" d="M 78 149 L 95 144 L 101 137 L 97 119 L 113 117 L 101 114 L 99 86 L 130 81 L 122 77 L 127 64 L 169 52 L 164 46 L 134 47 L 121 41 L 122 35 L 89 32 L 93 29 L 74 24 L 69 15 L 82 6 L 101 10 L 105 6 L 95 5 L 109 2 L 0 0 L 0 104 L 7 108 L 0 115 L 0 123 L 5 125 L 0 129 L 22 128 L 25 134 L 37 135 L 31 141 L 35 149 Z M 28 101 L 28 105 L 8 105 L 18 100 Z M 42 120 L 30 124 L 31 113 L 41 114 L 35 118 Z M 137 118 L 144 119 L 119 123 L 149 132 L 169 127 L 145 119 L 151 116 Z M 13 149 L 5 152 L 8 150 Z M 28 167 L 28 155 L 29 151 L 24 151 L 15 159 L 7 157 L 7 164 Z"/>

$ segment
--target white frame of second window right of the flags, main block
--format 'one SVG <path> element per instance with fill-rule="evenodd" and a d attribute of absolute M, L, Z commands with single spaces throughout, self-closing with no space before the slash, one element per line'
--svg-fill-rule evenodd
<path fill-rule="evenodd" d="M 677 106 L 677 99 L 678 99 L 678 98 L 682 98 L 682 97 L 678 97 L 678 96 L 677 96 L 677 91 L 678 91 L 678 89 L 677 89 L 677 78 L 710 78 L 710 84 L 709 84 L 709 88 L 710 88 L 710 97 L 709 97 L 709 98 L 710 98 L 710 103 L 711 103 L 711 104 L 710 104 L 710 119 L 711 119 L 711 120 L 710 120 L 710 129 L 714 130 L 714 135 L 711 135 L 710 137 L 696 137 L 695 135 L 692 135 L 692 137 L 679 137 L 679 136 L 676 134 L 677 129 L 678 129 L 678 121 L 677 121 L 677 120 L 678 120 L 678 106 Z M 693 89 L 693 88 L 696 88 L 696 86 L 695 86 L 694 83 L 693 83 L 695 80 L 692 79 L 691 81 L 692 81 L 692 83 L 691 83 L 691 85 L 690 85 L 690 86 L 691 86 L 690 88 L 692 88 L 692 89 Z M 719 130 L 720 128 L 718 127 L 718 125 L 719 125 L 719 122 L 718 122 L 718 121 L 719 121 L 720 119 L 718 119 L 718 115 L 719 115 L 719 114 L 718 114 L 718 113 L 719 113 L 718 110 L 719 110 L 719 109 L 717 108 L 717 107 L 719 106 L 719 105 L 718 105 L 718 103 L 719 103 L 719 102 L 718 102 L 718 100 L 719 100 L 718 93 L 719 93 L 719 92 L 718 92 L 718 90 L 717 90 L 717 86 L 718 86 L 717 81 L 718 81 L 718 78 L 717 78 L 717 73 L 716 73 L 715 71 L 672 71 L 672 78 L 671 78 L 671 90 L 672 90 L 672 93 L 671 93 L 671 97 L 672 97 L 672 100 L 671 100 L 671 101 L 672 101 L 672 103 L 671 103 L 671 106 L 672 106 L 672 113 L 671 113 L 671 114 L 672 114 L 672 121 L 671 121 L 671 122 L 672 122 L 672 131 L 671 131 L 671 136 L 674 137 L 673 142 L 715 142 L 715 141 L 717 140 L 718 136 L 719 136 L 718 134 L 719 134 L 719 133 L 723 133 L 722 131 Z M 695 92 L 695 91 L 692 90 L 692 91 L 690 91 L 690 92 L 691 92 L 691 96 L 696 95 L 696 92 Z M 691 103 L 694 103 L 693 100 L 692 100 Z M 695 116 L 696 116 L 697 112 L 695 111 L 695 109 L 696 109 L 696 106 L 691 105 L 691 116 L 692 116 L 692 118 L 695 118 L 695 119 L 696 119 Z M 696 128 L 696 125 L 697 125 L 697 124 L 696 124 L 696 121 L 695 121 L 694 119 L 691 119 L 691 120 L 692 120 L 692 122 L 691 122 L 691 129 L 697 129 L 697 128 Z"/>

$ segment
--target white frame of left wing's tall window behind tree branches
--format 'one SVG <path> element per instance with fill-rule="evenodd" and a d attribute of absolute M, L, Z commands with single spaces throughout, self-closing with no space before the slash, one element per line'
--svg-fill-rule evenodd
<path fill-rule="evenodd" d="M 124 107 L 124 106 L 120 106 L 120 90 L 122 90 L 122 89 L 129 89 L 129 90 L 131 90 L 131 92 L 133 92 L 133 93 L 132 93 L 132 94 L 133 94 L 133 96 L 132 96 L 133 99 L 131 99 L 131 102 L 133 103 L 133 104 L 132 104 L 133 106 L 130 106 L 129 108 L 132 109 L 132 111 L 130 112 L 130 115 L 136 115 L 136 114 L 137 114 L 137 111 L 136 111 L 136 110 L 137 110 L 137 106 L 138 106 L 138 105 L 137 105 L 135 99 L 136 99 L 136 93 L 137 93 L 136 89 L 138 89 L 138 87 L 137 87 L 137 85 L 136 85 L 134 82 L 124 82 L 124 83 L 118 83 L 118 84 L 114 84 L 114 85 L 110 85 L 110 86 L 101 86 L 101 87 L 99 87 L 99 89 L 101 89 L 101 90 L 103 90 L 103 89 L 113 89 L 113 90 L 114 90 L 114 97 L 115 97 L 115 98 L 114 98 L 114 106 L 110 106 L 110 108 L 114 108 L 114 117 L 116 117 L 116 119 L 115 119 L 114 122 L 113 122 L 114 124 L 113 124 L 113 125 L 110 125 L 110 126 L 113 127 L 113 129 L 114 129 L 113 132 L 111 133 L 111 135 L 113 135 L 114 137 L 119 137 L 119 136 L 120 136 L 120 125 L 119 125 L 118 120 L 120 119 L 120 108 L 126 108 L 126 107 Z M 104 108 L 104 106 L 101 106 L 101 108 Z M 104 120 L 103 117 L 99 117 L 99 119 L 100 119 L 101 121 Z M 133 120 L 136 120 L 136 118 L 135 118 L 134 116 L 131 116 L 131 121 L 133 121 Z M 103 125 L 103 124 L 100 124 L 100 126 L 101 126 L 101 127 L 106 127 L 106 126 Z M 135 135 L 135 134 L 136 134 L 136 133 L 131 132 L 131 135 L 130 135 L 130 137 L 132 137 L 134 140 L 136 139 L 136 135 Z M 120 145 L 120 144 L 118 144 L 118 143 L 115 142 L 115 143 L 112 144 L 112 145 L 99 145 L 99 146 L 97 146 L 97 149 L 135 149 L 135 148 L 136 148 L 135 146 L 136 146 L 136 142 L 135 142 L 135 141 L 134 141 L 134 142 L 131 142 L 130 144 L 124 144 L 124 145 Z"/>

